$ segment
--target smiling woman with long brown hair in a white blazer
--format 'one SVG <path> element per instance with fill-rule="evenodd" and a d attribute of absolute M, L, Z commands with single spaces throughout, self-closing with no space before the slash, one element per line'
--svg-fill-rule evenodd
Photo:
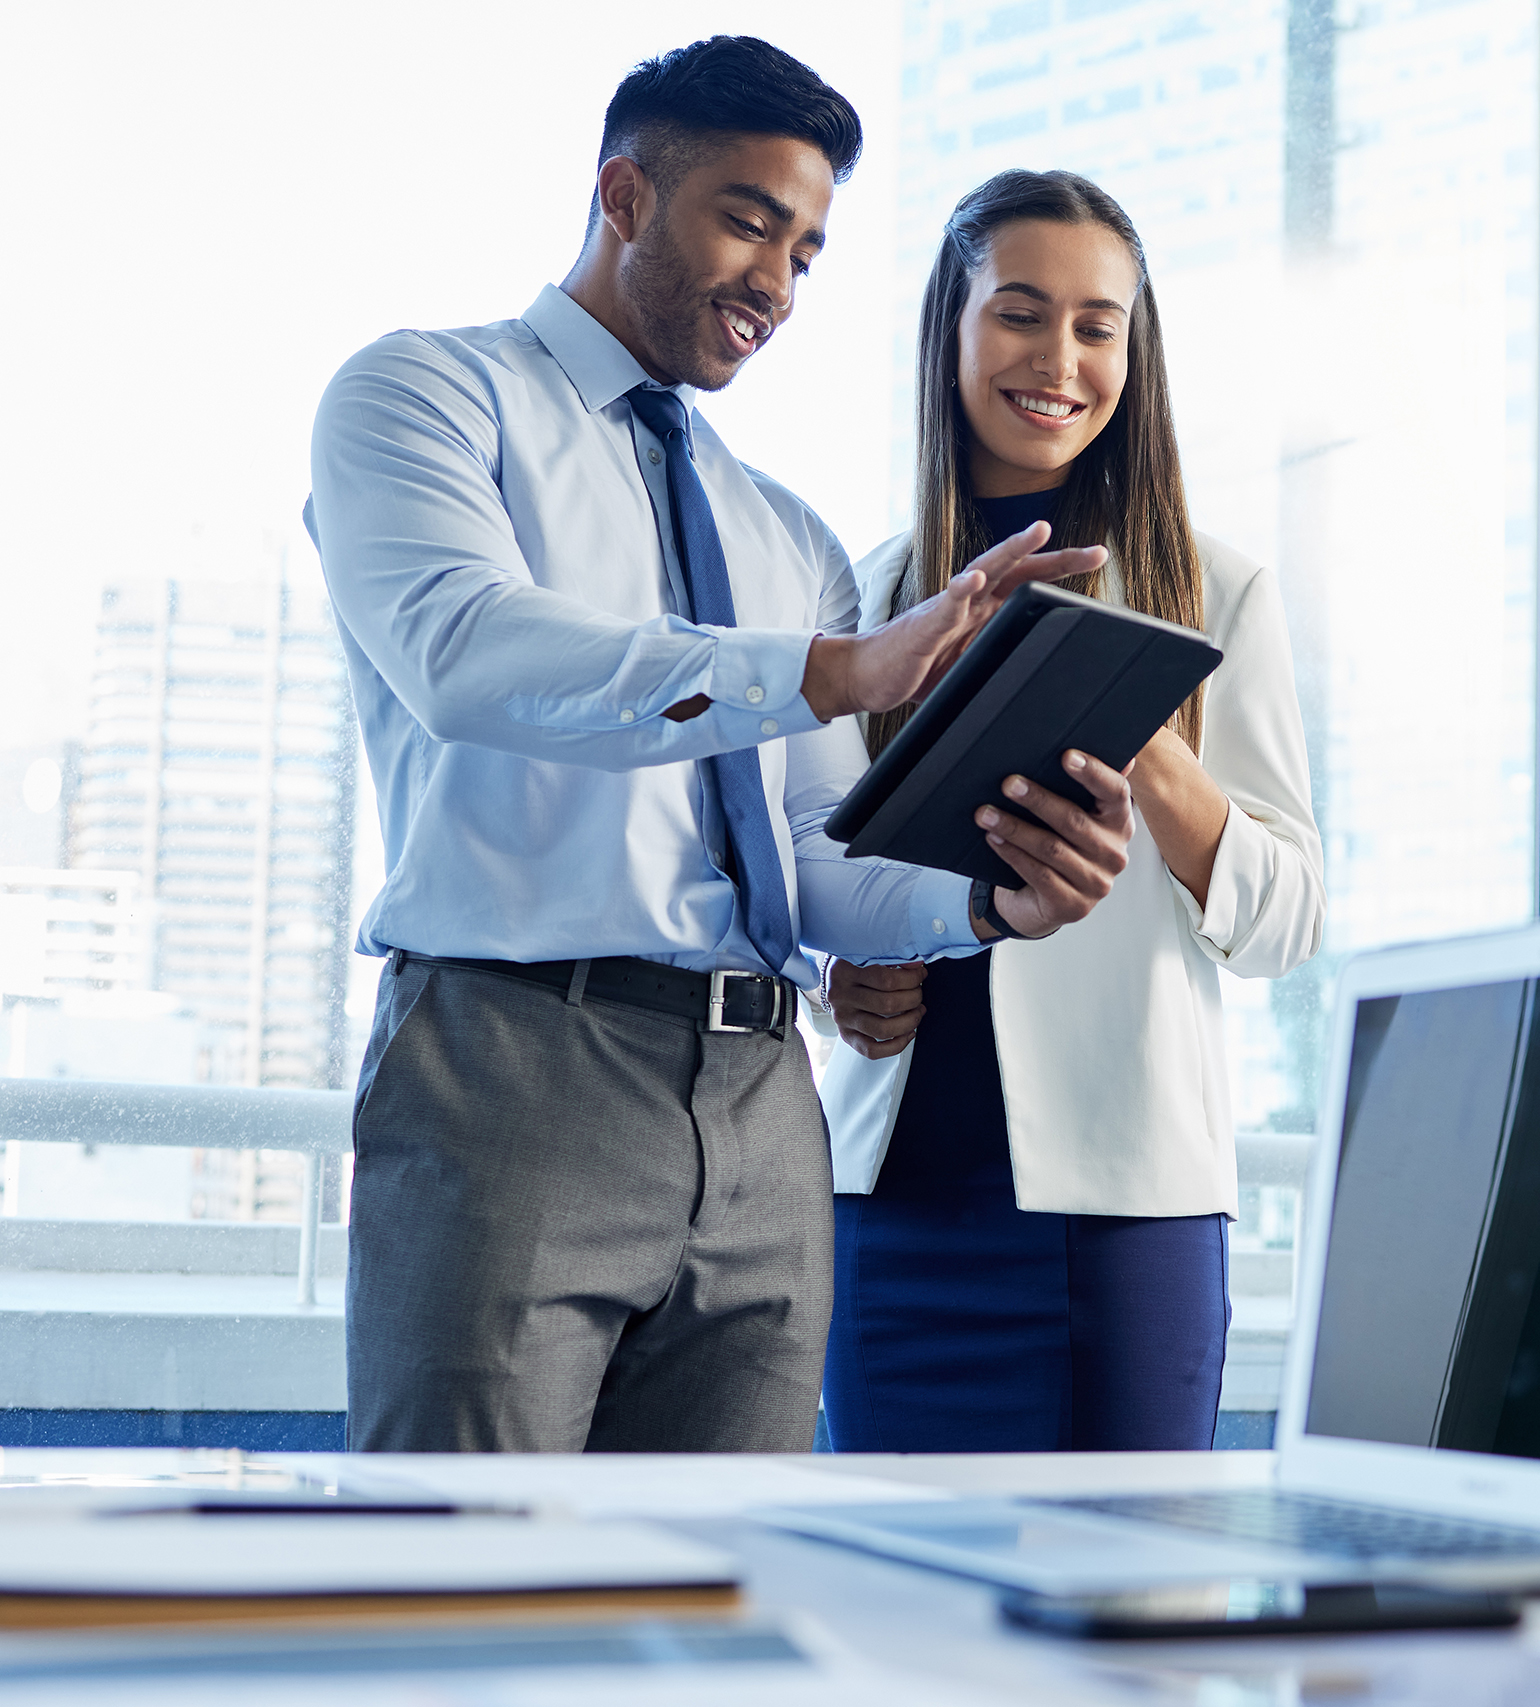
<path fill-rule="evenodd" d="M 1192 531 L 1144 251 L 1082 178 L 1002 172 L 958 205 L 917 410 L 917 522 L 857 570 L 864 626 L 1047 519 L 1110 550 L 1067 586 L 1204 628 L 1224 662 L 1139 754 L 1140 830 L 1089 918 L 828 968 L 831 1442 L 1205 1449 L 1236 1214 L 1216 966 L 1277 978 L 1325 918 L 1277 586 Z M 903 717 L 871 720 L 872 753 Z"/>

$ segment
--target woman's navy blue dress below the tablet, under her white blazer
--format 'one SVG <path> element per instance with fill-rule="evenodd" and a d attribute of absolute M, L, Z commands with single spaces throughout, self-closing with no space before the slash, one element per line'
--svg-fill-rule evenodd
<path fill-rule="evenodd" d="M 1016 1207 L 989 956 L 937 961 L 871 1197 L 835 1197 L 835 1451 L 1209 1449 L 1222 1215 Z"/>

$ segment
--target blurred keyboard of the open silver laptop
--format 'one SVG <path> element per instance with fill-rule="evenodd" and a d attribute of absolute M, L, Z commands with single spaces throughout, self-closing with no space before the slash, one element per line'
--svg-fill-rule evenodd
<path fill-rule="evenodd" d="M 1064 1499 L 1055 1506 L 1140 1523 L 1166 1523 L 1243 1541 L 1270 1541 L 1306 1553 L 1347 1558 L 1448 1558 L 1540 1553 L 1540 1531 L 1497 1523 L 1354 1506 L 1349 1500 L 1236 1489 L 1216 1494 L 1123 1494 Z"/>

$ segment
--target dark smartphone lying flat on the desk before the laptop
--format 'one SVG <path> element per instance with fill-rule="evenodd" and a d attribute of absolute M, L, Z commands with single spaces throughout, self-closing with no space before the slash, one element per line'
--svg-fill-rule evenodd
<path fill-rule="evenodd" d="M 1053 1635 L 1151 1640 L 1199 1635 L 1325 1635 L 1349 1630 L 1506 1628 L 1520 1622 L 1508 1594 L 1422 1582 L 1265 1582 L 1233 1577 L 1110 1594 L 1011 1589 L 1007 1622 Z"/>

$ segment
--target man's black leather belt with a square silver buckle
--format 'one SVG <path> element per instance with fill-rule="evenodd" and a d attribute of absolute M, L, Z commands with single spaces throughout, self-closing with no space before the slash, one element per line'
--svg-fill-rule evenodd
<path fill-rule="evenodd" d="M 685 971 L 657 961 L 611 958 L 587 961 L 587 975 L 579 978 L 582 961 L 473 961 L 442 954 L 391 951 L 391 970 L 406 961 L 420 966 L 459 966 L 464 971 L 492 971 L 502 978 L 543 983 L 563 995 L 594 995 L 604 1002 L 645 1007 L 654 1014 L 693 1019 L 702 1031 L 784 1031 L 796 1002 L 796 987 L 785 978 L 755 971 Z"/>

